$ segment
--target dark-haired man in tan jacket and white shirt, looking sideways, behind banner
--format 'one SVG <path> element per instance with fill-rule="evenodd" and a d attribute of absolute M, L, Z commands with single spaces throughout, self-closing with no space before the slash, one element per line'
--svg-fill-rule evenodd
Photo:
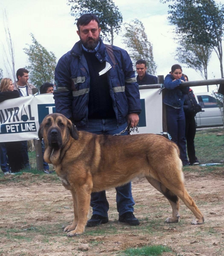
<path fill-rule="evenodd" d="M 17 90 L 20 93 L 20 97 L 32 95 L 32 88 L 35 88 L 35 86 L 28 82 L 29 71 L 25 68 L 20 68 L 16 72 L 16 77 L 17 81 L 15 81 L 13 85 L 14 90 Z M 22 151 L 23 158 L 25 160 L 25 167 L 30 169 L 27 140 L 22 141 Z"/>

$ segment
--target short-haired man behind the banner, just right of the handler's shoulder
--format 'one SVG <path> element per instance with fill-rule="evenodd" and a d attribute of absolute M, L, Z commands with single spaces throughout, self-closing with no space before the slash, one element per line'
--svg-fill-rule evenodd
<path fill-rule="evenodd" d="M 149 75 L 146 67 L 146 61 L 140 59 L 136 61 L 136 70 L 137 70 L 137 83 L 139 85 L 147 85 L 147 84 L 158 84 L 158 80 L 156 76 Z"/>

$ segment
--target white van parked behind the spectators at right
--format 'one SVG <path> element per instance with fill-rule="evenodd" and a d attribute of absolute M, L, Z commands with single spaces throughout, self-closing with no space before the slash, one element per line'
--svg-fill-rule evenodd
<path fill-rule="evenodd" d="M 197 113 L 195 120 L 197 127 L 222 126 L 222 112 L 217 105 L 213 93 L 194 93 L 202 112 Z"/>

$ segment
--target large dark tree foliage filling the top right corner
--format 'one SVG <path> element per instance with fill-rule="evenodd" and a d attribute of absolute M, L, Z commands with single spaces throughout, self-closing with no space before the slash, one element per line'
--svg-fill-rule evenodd
<path fill-rule="evenodd" d="M 175 26 L 176 35 L 195 45 L 212 47 L 222 67 L 222 39 L 224 29 L 224 5 L 215 0 L 160 0 L 169 5 L 169 22 Z"/>

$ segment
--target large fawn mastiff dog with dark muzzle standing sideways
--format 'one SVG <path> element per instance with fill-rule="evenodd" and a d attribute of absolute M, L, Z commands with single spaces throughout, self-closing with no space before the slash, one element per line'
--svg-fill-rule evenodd
<path fill-rule="evenodd" d="M 65 116 L 46 116 L 38 131 L 44 138 L 44 159 L 52 163 L 64 187 L 71 191 L 74 205 L 73 224 L 67 236 L 85 230 L 90 209 L 90 194 L 122 186 L 136 177 L 148 182 L 168 199 L 172 217 L 179 221 L 179 198 L 193 212 L 192 224 L 203 224 L 204 217 L 183 183 L 182 163 L 175 143 L 155 134 L 132 136 L 96 135 L 77 131 Z"/>

